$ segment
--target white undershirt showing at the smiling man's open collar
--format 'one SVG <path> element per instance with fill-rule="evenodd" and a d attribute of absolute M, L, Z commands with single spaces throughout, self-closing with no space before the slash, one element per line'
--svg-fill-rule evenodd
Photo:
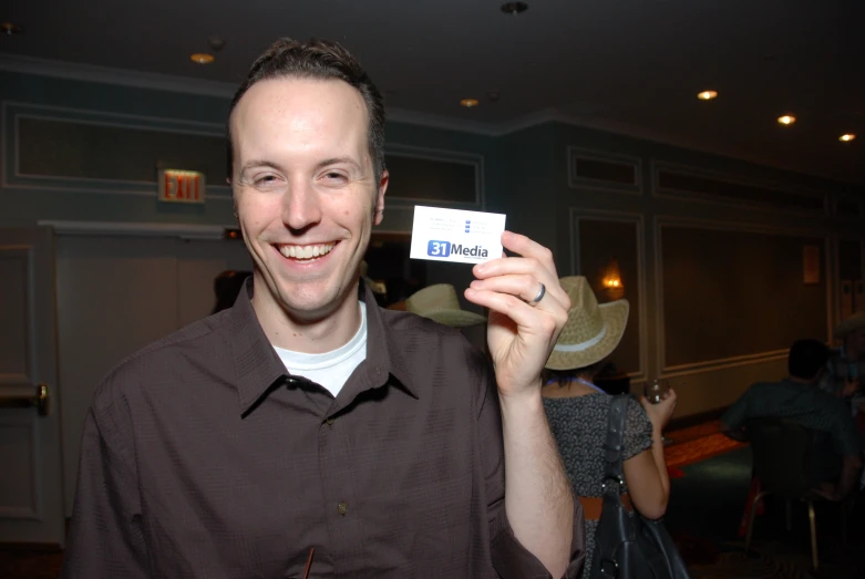
<path fill-rule="evenodd" d="M 307 354 L 274 347 L 289 373 L 321 384 L 336 397 L 354 369 L 367 359 L 367 304 L 360 303 L 360 328 L 344 345 L 323 354 Z"/>

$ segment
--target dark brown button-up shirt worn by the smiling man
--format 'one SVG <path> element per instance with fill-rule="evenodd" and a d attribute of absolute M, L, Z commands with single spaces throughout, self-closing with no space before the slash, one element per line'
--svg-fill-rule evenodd
<path fill-rule="evenodd" d="M 334 399 L 241 292 L 132 355 L 84 425 L 66 578 L 549 577 L 505 515 L 495 379 L 452 329 L 367 293 Z M 578 504 L 578 503 L 577 503 Z M 585 549 L 575 517 L 576 577 Z"/>

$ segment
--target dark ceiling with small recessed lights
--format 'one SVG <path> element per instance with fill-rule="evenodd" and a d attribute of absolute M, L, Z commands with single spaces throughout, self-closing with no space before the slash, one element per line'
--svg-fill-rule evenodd
<path fill-rule="evenodd" d="M 864 0 L 527 2 L 508 15 L 496 0 L 12 0 L 0 21 L 25 33 L 0 37 L 0 65 L 47 59 L 228 94 L 276 38 L 329 38 L 398 117 L 491 133 L 560 118 L 865 184 Z M 193 63 L 214 35 L 216 62 Z M 701 102 L 704 89 L 720 96 Z M 461 107 L 468 96 L 480 106 Z M 795 125 L 776 123 L 785 112 Z"/>

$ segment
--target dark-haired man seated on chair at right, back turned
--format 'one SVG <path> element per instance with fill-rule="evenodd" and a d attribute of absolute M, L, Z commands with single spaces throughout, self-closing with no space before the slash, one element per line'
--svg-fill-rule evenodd
<path fill-rule="evenodd" d="M 862 442 L 845 403 L 820 390 L 828 349 L 817 340 L 799 340 L 790 349 L 790 376 L 752 385 L 721 417 L 724 434 L 745 441 L 749 418 L 790 418 L 814 433 L 812 477 L 817 492 L 842 500 L 856 486 Z"/>

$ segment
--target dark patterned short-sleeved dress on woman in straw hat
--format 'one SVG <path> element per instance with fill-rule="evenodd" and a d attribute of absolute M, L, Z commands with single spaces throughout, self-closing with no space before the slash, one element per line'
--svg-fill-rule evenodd
<path fill-rule="evenodd" d="M 565 472 L 576 496 L 599 497 L 604 480 L 604 441 L 612 396 L 604 393 L 566 399 L 544 399 L 544 407 L 553 436 L 565 464 Z M 628 401 L 622 461 L 651 447 L 651 422 L 640 403 Z M 626 485 L 627 486 L 627 485 Z M 587 579 L 595 552 L 597 520 L 586 521 L 586 564 L 583 578 Z"/>

